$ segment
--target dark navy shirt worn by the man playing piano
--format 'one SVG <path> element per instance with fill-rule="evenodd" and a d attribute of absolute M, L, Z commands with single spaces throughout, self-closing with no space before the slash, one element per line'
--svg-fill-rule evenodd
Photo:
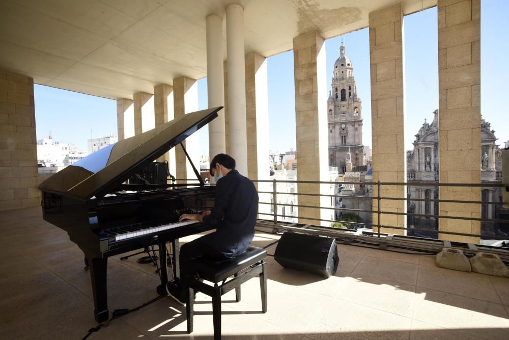
<path fill-rule="evenodd" d="M 203 241 L 226 257 L 246 251 L 254 237 L 258 193 L 249 178 L 231 170 L 217 181 L 215 203 L 203 223 L 216 228 Z"/>

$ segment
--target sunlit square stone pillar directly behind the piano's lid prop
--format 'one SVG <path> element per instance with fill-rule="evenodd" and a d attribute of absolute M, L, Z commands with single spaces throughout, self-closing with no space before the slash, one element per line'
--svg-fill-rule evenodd
<path fill-rule="evenodd" d="M 188 77 L 179 77 L 173 80 L 174 114 L 179 119 L 187 113 L 198 110 L 198 83 Z M 200 171 L 200 139 L 195 133 L 186 138 L 182 143 L 187 150 L 194 166 Z M 176 177 L 178 179 L 194 179 L 196 175 L 186 158 L 182 147 L 175 147 L 175 162 L 177 166 Z M 212 156 L 213 157 L 213 156 Z M 181 181 L 182 183 L 182 181 Z M 196 183 L 193 181 L 193 183 Z"/>

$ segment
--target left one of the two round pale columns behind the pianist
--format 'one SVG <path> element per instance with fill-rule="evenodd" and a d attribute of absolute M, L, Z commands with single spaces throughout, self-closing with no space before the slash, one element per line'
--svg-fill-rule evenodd
<path fill-rule="evenodd" d="M 222 18 L 209 15 L 207 29 L 207 101 L 209 108 L 224 106 Z M 209 123 L 209 161 L 226 152 L 224 110 Z"/>

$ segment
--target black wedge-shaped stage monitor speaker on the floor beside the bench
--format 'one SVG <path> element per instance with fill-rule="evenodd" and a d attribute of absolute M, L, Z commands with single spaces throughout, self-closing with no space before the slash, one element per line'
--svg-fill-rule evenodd
<path fill-rule="evenodd" d="M 287 231 L 277 243 L 274 259 L 285 268 L 334 275 L 340 258 L 333 238 Z"/>

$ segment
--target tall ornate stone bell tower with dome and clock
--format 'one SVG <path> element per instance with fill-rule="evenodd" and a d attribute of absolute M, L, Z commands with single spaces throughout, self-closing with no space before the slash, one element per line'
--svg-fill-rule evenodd
<path fill-rule="evenodd" d="M 334 63 L 331 90 L 327 100 L 329 129 L 329 165 L 339 173 L 364 165 L 362 145 L 362 102 L 357 95 L 351 60 L 340 47 Z"/>

